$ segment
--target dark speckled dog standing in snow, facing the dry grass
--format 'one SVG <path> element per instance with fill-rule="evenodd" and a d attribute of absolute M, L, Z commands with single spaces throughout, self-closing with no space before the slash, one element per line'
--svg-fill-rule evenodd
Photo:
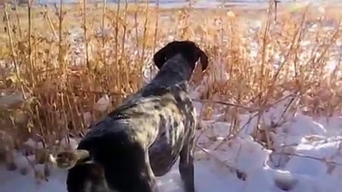
<path fill-rule="evenodd" d="M 184 189 L 195 191 L 196 115 L 187 82 L 198 58 L 205 70 L 206 55 L 190 41 L 171 42 L 155 54 L 160 71 L 152 82 L 92 125 L 79 143 L 96 166 L 72 168 L 68 192 L 158 192 L 155 177 L 168 173 L 178 157 Z"/>

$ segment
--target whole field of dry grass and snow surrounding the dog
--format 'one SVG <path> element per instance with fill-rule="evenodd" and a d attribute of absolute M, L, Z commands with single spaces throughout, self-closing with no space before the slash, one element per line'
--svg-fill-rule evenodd
<path fill-rule="evenodd" d="M 153 78 L 156 51 L 189 39 L 209 56 L 191 79 L 198 192 L 338 192 L 341 6 L 277 5 L 0 8 L 0 191 L 28 180 L 26 192 L 64 192 L 65 173 L 48 154 L 74 148 L 91 122 Z M 179 192 L 177 180 L 174 168 L 160 183 Z"/>

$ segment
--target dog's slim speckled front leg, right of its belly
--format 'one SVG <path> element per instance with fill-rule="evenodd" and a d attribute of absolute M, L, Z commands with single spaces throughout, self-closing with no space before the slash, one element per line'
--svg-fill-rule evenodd
<path fill-rule="evenodd" d="M 185 192 L 195 192 L 194 167 L 193 167 L 194 138 L 191 138 L 179 154 L 179 173 L 183 182 Z"/>

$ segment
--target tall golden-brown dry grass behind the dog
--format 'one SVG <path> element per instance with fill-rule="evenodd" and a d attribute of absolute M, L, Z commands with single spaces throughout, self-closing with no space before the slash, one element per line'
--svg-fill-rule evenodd
<path fill-rule="evenodd" d="M 228 11 L 85 2 L 2 9 L 1 18 L 10 17 L 0 24 L 6 27 L 0 33 L 0 89 L 27 97 L 0 106 L 2 140 L 13 143 L 7 151 L 28 138 L 51 150 L 68 133 L 84 134 L 89 122 L 83 114 L 98 119 L 136 92 L 145 64 L 173 39 L 194 40 L 208 53 L 206 80 L 196 71 L 192 83 L 204 82 L 200 99 L 223 101 L 232 135 L 248 109 L 225 102 L 258 110 L 258 128 L 265 127 L 263 111 L 285 92 L 294 93 L 296 109 L 307 114 L 341 112 L 339 8 L 290 10 L 280 4 L 275 22 L 272 3 L 269 9 Z M 94 105 L 105 94 L 112 107 L 99 112 Z M 202 118 L 210 118 L 214 104 L 206 102 Z"/>

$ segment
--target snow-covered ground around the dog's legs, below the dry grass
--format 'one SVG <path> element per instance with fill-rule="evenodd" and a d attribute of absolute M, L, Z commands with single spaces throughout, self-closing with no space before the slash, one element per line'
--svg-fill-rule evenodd
<path fill-rule="evenodd" d="M 195 153 L 197 192 L 340 192 L 342 117 L 313 119 L 302 113 L 283 114 L 290 99 L 264 113 L 265 126 L 278 122 L 280 117 L 286 119 L 270 131 L 273 153 L 250 136 L 256 118 L 219 147 L 228 134 L 229 123 L 220 121 L 219 114 L 215 120 L 202 120 L 197 142 L 202 150 Z M 196 103 L 196 107 L 200 110 L 201 104 Z M 242 114 L 240 124 L 253 115 Z M 16 163 L 16 171 L 1 167 L 0 192 L 66 192 L 65 171 L 53 169 L 48 182 L 37 184 L 32 170 L 26 176 L 19 173 L 20 166 L 29 167 L 26 159 L 16 158 Z M 182 192 L 177 167 L 174 165 L 170 173 L 159 178 L 162 192 Z"/>

